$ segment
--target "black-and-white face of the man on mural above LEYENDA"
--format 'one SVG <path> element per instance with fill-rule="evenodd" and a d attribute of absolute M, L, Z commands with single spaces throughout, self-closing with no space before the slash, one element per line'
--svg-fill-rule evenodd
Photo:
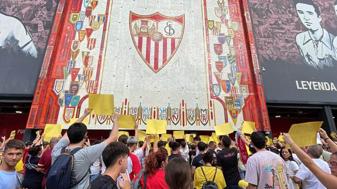
<path fill-rule="evenodd" d="M 305 28 L 310 31 L 317 31 L 318 29 L 322 28 L 320 24 L 322 17 L 321 15 L 317 15 L 314 6 L 299 3 L 296 5 L 296 10 Z"/>

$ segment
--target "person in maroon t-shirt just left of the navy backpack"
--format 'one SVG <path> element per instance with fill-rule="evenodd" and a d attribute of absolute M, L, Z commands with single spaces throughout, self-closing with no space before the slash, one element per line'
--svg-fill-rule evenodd
<path fill-rule="evenodd" d="M 37 165 L 37 171 L 41 171 L 44 173 L 44 177 L 42 180 L 42 188 L 45 187 L 46 176 L 49 171 L 49 168 L 52 166 L 52 151 L 56 143 L 59 142 L 59 139 L 54 137 L 49 142 L 49 149 L 45 150 L 39 160 L 39 164 Z"/>

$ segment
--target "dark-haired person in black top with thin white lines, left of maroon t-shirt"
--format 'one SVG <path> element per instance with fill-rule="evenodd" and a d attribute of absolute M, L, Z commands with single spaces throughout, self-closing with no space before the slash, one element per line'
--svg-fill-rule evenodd
<path fill-rule="evenodd" d="M 41 189 L 43 173 L 36 170 L 41 156 L 41 146 L 34 146 L 28 151 L 25 161 L 26 173 L 23 177 L 22 187 L 29 189 Z"/>

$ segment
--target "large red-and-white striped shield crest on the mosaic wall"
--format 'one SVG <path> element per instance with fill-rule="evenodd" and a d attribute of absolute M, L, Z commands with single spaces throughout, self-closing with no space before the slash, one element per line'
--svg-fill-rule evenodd
<path fill-rule="evenodd" d="M 185 28 L 185 15 L 168 17 L 156 12 L 139 15 L 130 11 L 132 41 L 143 61 L 155 73 L 176 53 Z"/>

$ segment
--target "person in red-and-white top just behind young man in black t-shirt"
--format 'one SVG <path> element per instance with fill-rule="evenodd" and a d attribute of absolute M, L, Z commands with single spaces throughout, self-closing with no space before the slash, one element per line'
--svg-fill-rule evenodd
<path fill-rule="evenodd" d="M 138 140 L 135 137 L 130 137 L 127 140 L 127 146 L 130 150 L 129 153 L 129 159 L 128 159 L 128 168 L 127 168 L 127 173 L 129 174 L 130 180 L 133 180 L 136 175 L 140 172 L 140 164 L 139 164 L 139 159 L 136 155 L 134 155 L 132 152 L 135 151 L 137 148 Z"/>

